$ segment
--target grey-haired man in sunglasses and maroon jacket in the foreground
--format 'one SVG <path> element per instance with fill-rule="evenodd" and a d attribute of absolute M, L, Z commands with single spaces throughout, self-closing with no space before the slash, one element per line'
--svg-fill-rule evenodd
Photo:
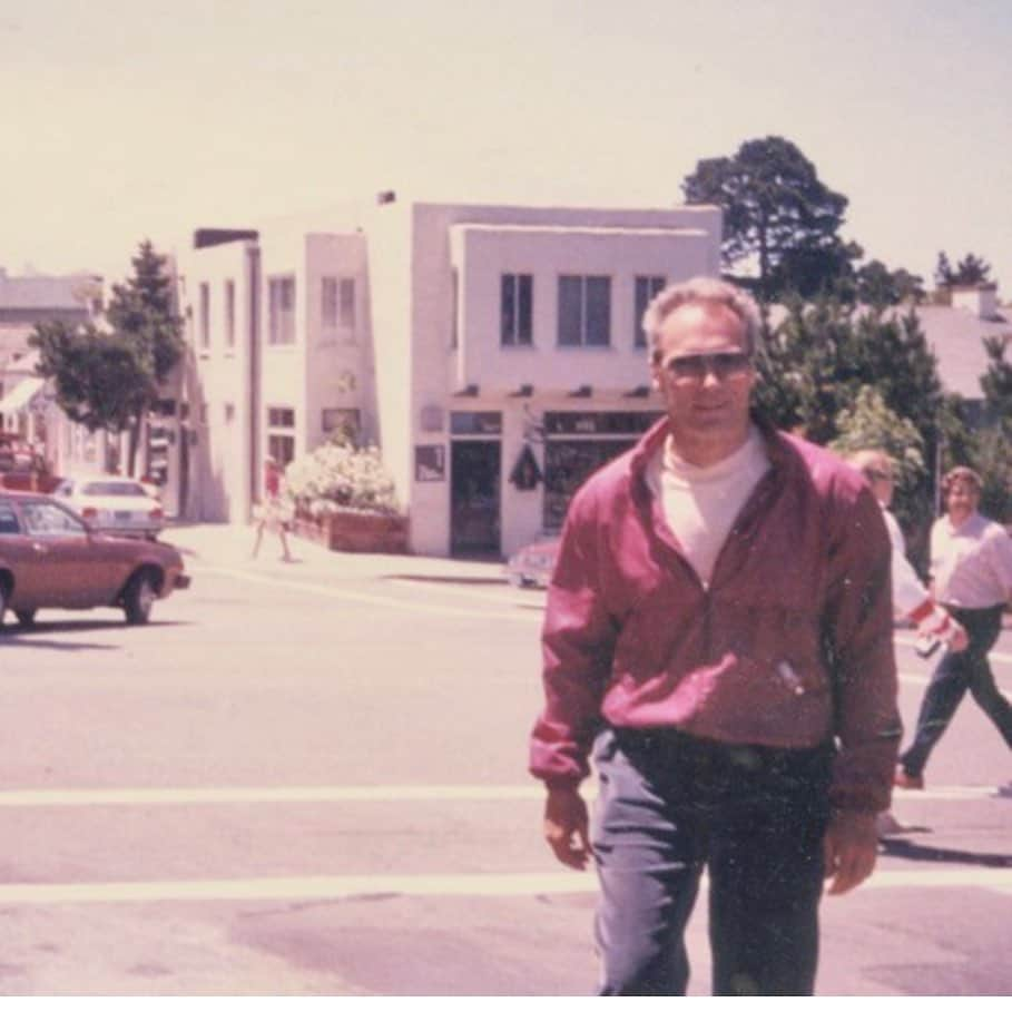
<path fill-rule="evenodd" d="M 871 874 L 888 806 L 888 537 L 851 468 L 750 417 L 745 293 L 671 286 L 643 325 L 667 416 L 577 493 L 549 588 L 544 834 L 592 853 L 600 993 L 685 993 L 707 867 L 714 992 L 810 994 L 823 877 Z"/>

